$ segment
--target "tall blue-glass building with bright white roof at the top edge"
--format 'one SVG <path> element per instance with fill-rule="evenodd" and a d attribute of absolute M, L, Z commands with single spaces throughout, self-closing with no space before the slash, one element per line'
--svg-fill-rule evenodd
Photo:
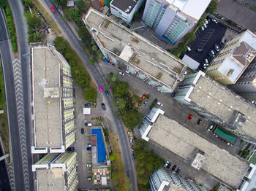
<path fill-rule="evenodd" d="M 195 26 L 211 0 L 147 0 L 142 20 L 154 36 L 175 44 Z"/>

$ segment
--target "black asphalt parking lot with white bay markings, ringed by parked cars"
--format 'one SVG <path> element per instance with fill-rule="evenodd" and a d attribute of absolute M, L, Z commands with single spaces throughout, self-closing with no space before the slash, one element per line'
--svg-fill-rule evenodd
<path fill-rule="evenodd" d="M 186 52 L 186 55 L 200 63 L 199 69 L 203 69 L 203 62 L 206 58 L 209 62 L 212 60 L 212 56 L 209 55 L 211 50 L 215 51 L 215 55 L 217 54 L 214 44 L 218 44 L 219 47 L 222 46 L 222 38 L 227 30 L 227 27 L 223 26 L 222 23 L 214 23 L 211 18 L 207 20 L 207 28 L 205 26 L 203 26 L 203 29 L 201 27 L 198 28 L 195 32 L 196 39 L 188 44 L 191 50 Z"/>

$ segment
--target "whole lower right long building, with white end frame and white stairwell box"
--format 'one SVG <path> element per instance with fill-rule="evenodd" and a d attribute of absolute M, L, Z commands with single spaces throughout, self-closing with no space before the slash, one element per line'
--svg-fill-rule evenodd
<path fill-rule="evenodd" d="M 140 127 L 142 138 L 170 150 L 198 171 L 206 171 L 217 181 L 236 189 L 249 168 L 246 161 L 184 128 L 164 113 L 157 108 L 151 110 Z"/>

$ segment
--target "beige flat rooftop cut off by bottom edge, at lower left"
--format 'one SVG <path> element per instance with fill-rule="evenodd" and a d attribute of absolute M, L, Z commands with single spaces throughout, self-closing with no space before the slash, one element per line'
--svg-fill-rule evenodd
<path fill-rule="evenodd" d="M 62 168 L 37 169 L 37 190 L 65 190 L 64 171 Z"/>

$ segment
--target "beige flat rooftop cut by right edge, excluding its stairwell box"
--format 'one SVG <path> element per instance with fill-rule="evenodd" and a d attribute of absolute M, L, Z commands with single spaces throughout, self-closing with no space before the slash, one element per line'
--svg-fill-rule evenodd
<path fill-rule="evenodd" d="M 219 83 L 207 77 L 200 76 L 189 98 L 194 101 L 197 106 L 203 107 L 226 123 L 233 120 L 236 110 L 244 114 L 246 121 L 241 128 L 237 128 L 236 131 L 256 139 L 255 106 L 247 103 L 244 99 L 241 99 L 240 96 L 225 90 L 224 86 L 219 85 Z"/>

